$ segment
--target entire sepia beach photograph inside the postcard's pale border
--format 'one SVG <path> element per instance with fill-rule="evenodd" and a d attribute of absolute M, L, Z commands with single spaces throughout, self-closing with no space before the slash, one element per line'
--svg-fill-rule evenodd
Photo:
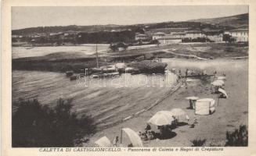
<path fill-rule="evenodd" d="M 248 147 L 249 19 L 249 5 L 12 6 L 11 146 Z"/>

